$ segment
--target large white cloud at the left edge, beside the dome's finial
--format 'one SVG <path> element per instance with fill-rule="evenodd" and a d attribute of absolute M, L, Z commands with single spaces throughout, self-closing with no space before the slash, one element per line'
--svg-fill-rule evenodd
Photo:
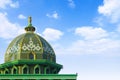
<path fill-rule="evenodd" d="M 6 13 L 0 13 L 0 38 L 11 39 L 23 32 L 19 24 L 8 20 Z"/>

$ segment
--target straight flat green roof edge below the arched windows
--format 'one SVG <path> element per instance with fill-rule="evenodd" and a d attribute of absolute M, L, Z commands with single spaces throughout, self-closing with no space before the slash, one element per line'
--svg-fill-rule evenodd
<path fill-rule="evenodd" d="M 0 79 L 77 80 L 77 74 L 1 74 Z"/>

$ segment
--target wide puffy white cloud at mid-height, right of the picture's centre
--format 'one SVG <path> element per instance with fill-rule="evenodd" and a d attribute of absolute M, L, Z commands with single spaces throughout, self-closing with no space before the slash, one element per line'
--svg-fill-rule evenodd
<path fill-rule="evenodd" d="M 78 27 L 75 30 L 75 34 L 83 36 L 86 40 L 101 39 L 108 36 L 108 33 L 102 28 L 93 28 L 91 26 Z"/>

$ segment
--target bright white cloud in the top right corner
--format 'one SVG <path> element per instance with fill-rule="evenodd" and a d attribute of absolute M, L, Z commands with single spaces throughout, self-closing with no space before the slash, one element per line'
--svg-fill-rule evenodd
<path fill-rule="evenodd" d="M 108 18 L 110 22 L 120 22 L 120 1 L 104 0 L 103 5 L 98 7 L 98 12 Z"/>

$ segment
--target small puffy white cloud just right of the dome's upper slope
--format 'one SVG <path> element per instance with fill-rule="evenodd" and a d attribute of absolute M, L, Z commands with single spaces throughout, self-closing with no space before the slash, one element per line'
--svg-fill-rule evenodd
<path fill-rule="evenodd" d="M 42 33 L 42 36 L 48 41 L 56 41 L 60 39 L 62 35 L 63 32 L 52 28 L 46 28 Z"/>

